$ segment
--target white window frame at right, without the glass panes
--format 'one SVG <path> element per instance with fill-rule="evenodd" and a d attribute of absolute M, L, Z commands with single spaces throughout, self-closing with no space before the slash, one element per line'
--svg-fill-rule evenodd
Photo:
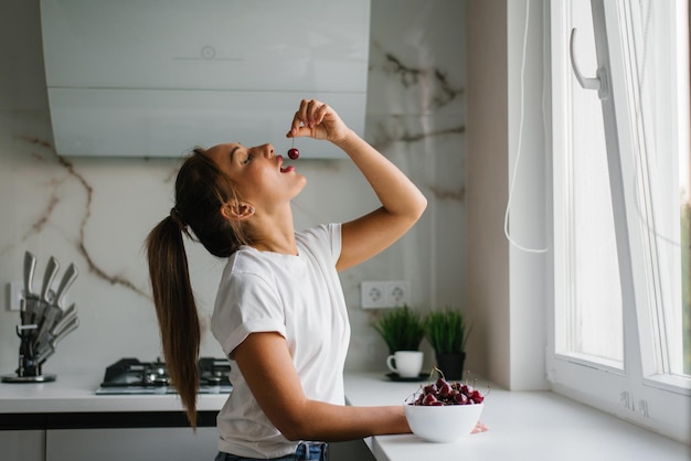
<path fill-rule="evenodd" d="M 566 95 L 570 85 L 575 83 L 568 63 L 568 4 L 563 0 L 552 0 L 546 24 L 551 37 L 551 90 L 552 90 L 552 164 L 553 164 L 553 242 L 554 242 L 554 309 L 550 311 L 548 331 L 546 371 L 552 388 L 574 399 L 598 407 L 623 419 L 634 421 L 668 437 L 691 441 L 689 432 L 689 408 L 691 403 L 690 379 L 668 375 L 658 365 L 663 363 L 663 351 L 660 351 L 660 337 L 653 334 L 650 325 L 657 319 L 648 309 L 650 302 L 660 302 L 659 271 L 655 269 L 657 247 L 650 242 L 648 232 L 641 219 L 631 211 L 637 205 L 634 199 L 638 191 L 631 181 L 648 181 L 640 176 L 640 170 L 627 156 L 618 152 L 635 152 L 638 148 L 635 137 L 638 136 L 637 120 L 630 116 L 630 104 L 636 95 L 628 93 L 625 85 L 626 62 L 621 42 L 620 28 L 626 26 L 618 20 L 619 2 L 592 0 L 594 26 L 596 33 L 597 61 L 600 75 L 604 75 L 605 89 L 602 99 L 603 115 L 606 125 L 606 143 L 612 186 L 613 211 L 615 214 L 615 233 L 617 235 L 618 259 L 621 283 L 623 322 L 624 322 L 624 369 L 594 363 L 586 357 L 576 357 L 559 353 L 556 330 L 561 319 L 561 310 L 567 301 L 568 280 L 567 250 L 564 249 L 564 223 L 567 222 L 562 210 L 568 206 L 566 195 L 562 195 L 564 171 L 568 167 L 559 152 L 568 150 L 568 116 L 571 116 Z M 610 53 L 610 51 L 613 51 Z M 595 69 L 584 71 L 594 74 Z M 609 94 L 607 94 L 609 92 Z M 609 125 L 607 125 L 609 124 Z M 568 176 L 566 176 L 568 178 Z M 566 184 L 568 186 L 568 184 Z M 644 211 L 645 212 L 645 211 Z M 649 289 L 653 287 L 655 289 Z M 663 334 L 663 333 L 662 333 Z M 656 356 L 657 354 L 657 356 Z M 587 383 L 587 386 L 583 386 Z"/>

